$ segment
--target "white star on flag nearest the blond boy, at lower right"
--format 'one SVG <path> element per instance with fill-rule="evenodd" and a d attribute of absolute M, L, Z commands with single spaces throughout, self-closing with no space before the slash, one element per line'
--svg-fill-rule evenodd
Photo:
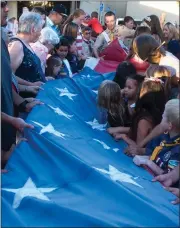
<path fill-rule="evenodd" d="M 113 181 L 126 182 L 126 183 L 130 183 L 130 184 L 134 184 L 140 188 L 143 188 L 141 185 L 139 185 L 132 179 L 133 177 L 131 175 L 120 172 L 112 165 L 109 165 L 109 171 L 107 171 L 105 169 L 99 169 L 96 167 L 94 167 L 94 169 L 98 170 L 101 173 L 108 174 Z"/>

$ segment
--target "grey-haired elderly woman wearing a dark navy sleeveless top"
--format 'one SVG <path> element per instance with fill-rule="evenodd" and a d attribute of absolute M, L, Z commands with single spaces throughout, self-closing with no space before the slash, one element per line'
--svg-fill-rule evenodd
<path fill-rule="evenodd" d="M 15 75 L 30 81 L 45 82 L 41 61 L 30 43 L 35 43 L 41 35 L 42 18 L 39 14 L 27 12 L 19 18 L 18 34 L 9 44 L 11 66 Z"/>

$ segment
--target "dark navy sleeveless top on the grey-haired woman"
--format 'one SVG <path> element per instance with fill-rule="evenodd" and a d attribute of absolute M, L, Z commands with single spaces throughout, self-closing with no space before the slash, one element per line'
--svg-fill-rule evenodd
<path fill-rule="evenodd" d="M 45 82 L 45 75 L 42 71 L 39 57 L 30 51 L 22 40 L 12 38 L 11 41 L 20 41 L 23 45 L 24 57 L 21 65 L 17 68 L 15 75 L 29 82 Z"/>

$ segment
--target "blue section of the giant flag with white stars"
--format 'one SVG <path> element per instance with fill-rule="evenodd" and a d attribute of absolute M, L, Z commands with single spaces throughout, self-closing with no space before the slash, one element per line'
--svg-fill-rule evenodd
<path fill-rule="evenodd" d="M 2 175 L 2 227 L 178 227 L 174 196 L 99 123 L 97 90 L 113 76 L 85 68 L 44 85 Z"/>

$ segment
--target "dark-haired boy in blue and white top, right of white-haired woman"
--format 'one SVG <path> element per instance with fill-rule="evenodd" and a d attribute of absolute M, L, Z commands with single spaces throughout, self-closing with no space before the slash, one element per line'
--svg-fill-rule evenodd
<path fill-rule="evenodd" d="M 69 50 L 69 42 L 65 37 L 60 38 L 59 44 L 55 46 L 55 54 L 54 56 L 59 57 L 63 64 L 61 68 L 60 75 L 57 78 L 62 77 L 72 77 L 72 71 L 68 60 L 66 59 L 68 50 Z"/>

